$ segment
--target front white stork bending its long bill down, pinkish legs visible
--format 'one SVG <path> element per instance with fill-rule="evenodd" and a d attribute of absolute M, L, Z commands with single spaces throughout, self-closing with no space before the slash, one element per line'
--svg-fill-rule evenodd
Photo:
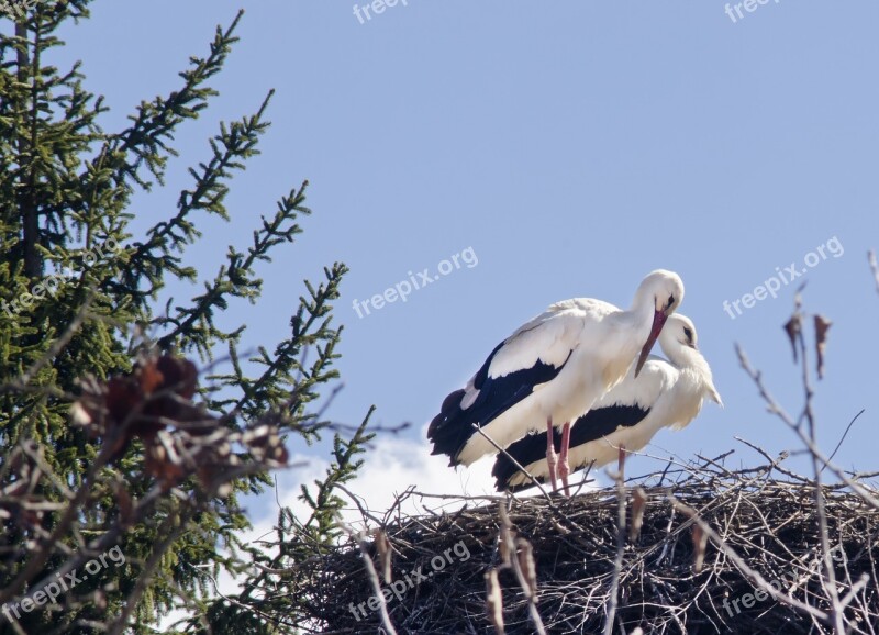
<path fill-rule="evenodd" d="M 627 311 L 591 298 L 550 305 L 501 342 L 465 388 L 446 397 L 427 428 L 431 454 L 446 454 L 455 466 L 494 453 L 474 424 L 499 447 L 544 423 L 547 432 L 560 425 L 559 456 L 547 443 L 546 459 L 553 488 L 558 466 L 567 492 L 570 422 L 625 377 L 638 352 L 634 372 L 641 371 L 682 299 L 680 277 L 657 269 L 641 282 Z"/>

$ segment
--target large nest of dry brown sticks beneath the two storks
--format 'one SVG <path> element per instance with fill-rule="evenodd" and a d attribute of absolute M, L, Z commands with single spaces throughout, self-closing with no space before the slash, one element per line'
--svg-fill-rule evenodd
<path fill-rule="evenodd" d="M 454 512 L 398 513 L 352 534 L 321 565 L 291 571 L 300 624 L 338 634 L 391 625 L 400 634 L 753 635 L 841 624 L 877 633 L 876 490 L 860 479 L 853 490 L 850 478 L 817 490 L 782 459 L 767 460 L 737 471 L 722 457 L 669 465 L 570 499 L 467 499 Z"/>

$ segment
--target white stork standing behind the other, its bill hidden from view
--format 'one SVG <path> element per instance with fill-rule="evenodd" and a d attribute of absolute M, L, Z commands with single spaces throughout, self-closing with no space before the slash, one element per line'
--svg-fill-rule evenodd
<path fill-rule="evenodd" d="M 723 406 L 711 368 L 696 347 L 696 327 L 689 318 L 671 315 L 659 335 L 659 346 L 670 364 L 650 356 L 637 379 L 630 372 L 575 423 L 569 458 L 575 470 L 611 463 L 620 447 L 638 450 L 661 427 L 683 428 L 699 414 L 704 399 Z M 559 436 L 555 432 L 554 443 Z M 549 472 L 546 445 L 547 433 L 531 434 L 510 445 L 507 453 L 534 478 L 545 481 Z M 532 484 L 503 454 L 498 455 L 491 474 L 499 491 Z"/>

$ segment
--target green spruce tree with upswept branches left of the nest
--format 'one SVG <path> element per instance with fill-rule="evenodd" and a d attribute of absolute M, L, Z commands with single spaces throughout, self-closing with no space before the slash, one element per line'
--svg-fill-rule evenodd
<path fill-rule="evenodd" d="M 241 14 L 190 59 L 176 90 L 111 132 L 81 66 L 45 62 L 64 44 L 58 27 L 88 19 L 89 4 L 0 4 L 0 604 L 21 609 L 0 616 L 0 633 L 151 633 L 181 599 L 194 611 L 190 631 L 294 632 L 278 615 L 297 600 L 260 591 L 281 556 L 240 542 L 238 499 L 271 482 L 266 470 L 283 463 L 285 439 L 333 432 L 326 479 L 313 498 L 303 490 L 312 516 L 280 514 L 280 538 L 290 527 L 300 536 L 283 558 L 307 560 L 336 536 L 334 487 L 353 478 L 370 436 L 366 420 L 340 433 L 315 409 L 336 378 L 331 311 L 346 268 L 304 281 L 289 336 L 255 358 L 238 356 L 244 326 L 216 325 L 233 302 L 257 302 L 257 268 L 301 233 L 299 218 L 311 213 L 302 182 L 251 241 L 229 247 L 202 292 L 156 305 L 169 281 L 200 280 L 187 249 L 207 215 L 229 218 L 227 182 L 258 154 L 271 93 L 255 113 L 220 123 L 176 209 L 135 235 L 132 198 L 165 187 L 175 132 L 215 96 L 210 81 Z M 229 370 L 200 372 L 193 394 L 192 369 L 226 357 L 216 368 Z M 175 463 L 174 448 L 200 465 Z M 73 564 L 111 547 L 124 564 L 34 602 Z M 221 570 L 253 571 L 253 561 L 263 572 L 235 604 L 213 595 Z"/>

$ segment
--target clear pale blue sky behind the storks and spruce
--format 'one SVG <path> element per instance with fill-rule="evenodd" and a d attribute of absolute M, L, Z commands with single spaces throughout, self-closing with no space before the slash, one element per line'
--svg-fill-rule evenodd
<path fill-rule="evenodd" d="M 188 56 L 204 54 L 241 5 L 98 1 L 91 20 L 65 32 L 55 62 L 84 62 L 115 130 L 141 99 L 175 89 Z M 136 199 L 136 226 L 173 213 L 185 168 L 208 157 L 219 121 L 277 90 L 263 154 L 232 183 L 232 222 L 207 220 L 190 254 L 212 278 L 225 245 L 247 241 L 259 214 L 310 180 L 305 234 L 264 266 L 258 308 L 233 305 L 227 323 L 248 324 L 246 345 L 271 346 L 303 278 L 334 260 L 352 268 L 335 313 L 345 389 L 331 415 L 356 423 L 375 403 L 377 423 L 413 423 L 402 439 L 379 441 L 375 482 L 402 489 L 421 478 L 424 424 L 519 324 L 570 297 L 628 305 L 659 267 L 683 278 L 681 312 L 726 408 L 708 404 L 685 432 L 657 435 L 652 453 L 736 448 L 737 465 L 758 457 L 734 436 L 770 453 L 799 447 L 733 347 L 798 411 L 781 325 L 808 280 L 806 309 L 834 322 L 815 400 L 822 445 L 831 449 L 866 409 L 837 459 L 875 469 L 879 296 L 866 254 L 879 247 L 879 4 L 770 0 L 736 22 L 719 1 L 408 0 L 364 23 L 351 2 L 244 8 L 241 42 L 213 81 L 221 94 L 178 135 L 167 187 Z M 825 248 L 806 267 L 833 238 L 842 253 Z M 357 316 L 355 300 L 468 247 L 478 265 Z M 808 272 L 777 299 L 735 319 L 724 311 L 793 263 Z M 292 449 L 314 465 L 326 456 Z M 382 461 L 408 468 L 388 478 Z M 653 467 L 642 458 L 630 469 Z M 448 491 L 467 478 L 442 466 L 432 475 Z"/>

